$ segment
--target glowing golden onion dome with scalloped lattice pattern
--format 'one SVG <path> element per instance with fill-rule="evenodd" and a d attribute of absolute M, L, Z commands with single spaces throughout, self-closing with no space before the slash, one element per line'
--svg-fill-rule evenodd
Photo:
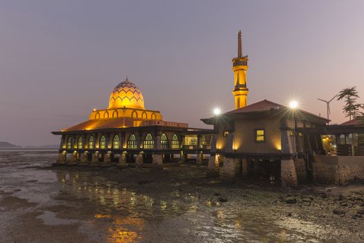
<path fill-rule="evenodd" d="M 144 110 L 144 98 L 134 83 L 125 81 L 119 83 L 110 95 L 109 109 L 111 108 L 137 108 Z"/>

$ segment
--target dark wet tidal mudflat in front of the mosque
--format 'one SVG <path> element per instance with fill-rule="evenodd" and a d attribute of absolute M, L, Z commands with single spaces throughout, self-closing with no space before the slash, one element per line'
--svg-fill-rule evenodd
<path fill-rule="evenodd" d="M 51 167 L 56 157 L 0 152 L 0 242 L 364 242 L 363 185 L 283 190 L 194 165 Z"/>

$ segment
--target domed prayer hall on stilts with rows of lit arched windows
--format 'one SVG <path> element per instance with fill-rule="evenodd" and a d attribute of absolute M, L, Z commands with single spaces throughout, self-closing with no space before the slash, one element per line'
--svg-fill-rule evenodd
<path fill-rule="evenodd" d="M 209 129 L 164 121 L 158 110 L 144 108 L 141 90 L 128 78 L 112 90 L 108 108 L 94 109 L 87 121 L 52 133 L 61 135 L 55 165 L 162 165 L 183 162 L 190 154 L 202 162 L 211 140 Z"/>

